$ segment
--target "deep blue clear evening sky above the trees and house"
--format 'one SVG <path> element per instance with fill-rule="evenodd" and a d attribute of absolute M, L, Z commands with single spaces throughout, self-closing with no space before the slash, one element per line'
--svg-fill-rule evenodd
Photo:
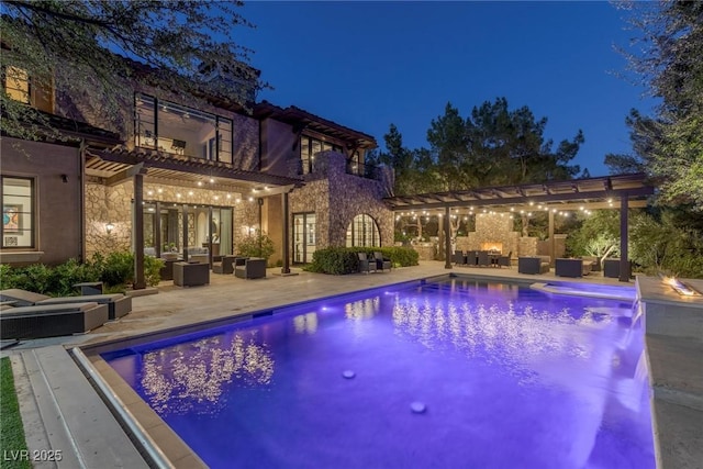
<path fill-rule="evenodd" d="M 607 174 L 607 153 L 629 153 L 625 116 L 649 113 L 643 89 L 616 76 L 626 60 L 623 12 L 607 2 L 248 2 L 238 31 L 252 65 L 281 107 L 375 136 L 394 123 L 405 146 L 428 146 L 447 102 L 468 116 L 505 97 L 546 116 L 555 143 L 583 130 L 576 163 Z"/>

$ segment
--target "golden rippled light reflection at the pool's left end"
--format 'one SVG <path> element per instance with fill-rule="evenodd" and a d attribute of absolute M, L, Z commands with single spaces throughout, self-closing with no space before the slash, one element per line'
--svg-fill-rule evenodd
<path fill-rule="evenodd" d="M 141 386 L 163 416 L 210 414 L 225 405 L 221 397 L 226 384 L 268 384 L 274 366 L 268 347 L 254 338 L 214 336 L 145 353 Z"/>

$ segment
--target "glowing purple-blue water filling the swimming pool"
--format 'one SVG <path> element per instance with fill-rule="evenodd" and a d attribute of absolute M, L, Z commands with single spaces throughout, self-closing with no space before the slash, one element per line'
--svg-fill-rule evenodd
<path fill-rule="evenodd" d="M 641 335 L 629 302 L 447 278 L 103 357 L 213 468 L 646 469 Z"/>

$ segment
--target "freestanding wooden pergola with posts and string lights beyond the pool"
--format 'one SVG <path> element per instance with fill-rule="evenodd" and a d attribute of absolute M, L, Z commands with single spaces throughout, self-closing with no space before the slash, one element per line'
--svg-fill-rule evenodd
<path fill-rule="evenodd" d="M 646 198 L 655 188 L 644 174 L 618 175 L 537 185 L 501 186 L 471 190 L 421 193 L 386 198 L 388 206 L 397 213 L 415 211 L 444 211 L 445 267 L 451 268 L 451 237 L 449 216 L 451 209 L 468 208 L 469 212 L 549 213 L 549 250 L 554 259 L 554 215 L 565 211 L 615 209 L 620 206 L 621 265 L 620 280 L 629 280 L 627 254 L 627 210 L 646 206 Z"/>

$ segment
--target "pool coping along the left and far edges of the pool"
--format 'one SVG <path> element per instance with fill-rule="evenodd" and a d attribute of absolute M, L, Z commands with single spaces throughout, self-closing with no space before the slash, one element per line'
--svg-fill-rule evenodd
<path fill-rule="evenodd" d="M 113 338 L 96 342 L 87 345 L 78 345 L 70 349 L 70 356 L 80 368 L 87 379 L 93 384 L 96 392 L 105 401 L 111 412 L 125 428 L 132 443 L 137 446 L 155 467 L 174 468 L 207 468 L 205 462 L 193 451 L 182 438 L 171 429 L 168 424 L 137 394 L 137 392 L 124 381 L 124 379 L 101 357 L 101 354 L 119 348 L 138 346 L 145 343 L 167 339 L 176 335 L 196 334 L 198 332 L 223 327 L 228 324 L 237 324 L 253 321 L 261 316 L 272 316 L 287 313 L 311 301 L 337 300 L 358 297 L 368 291 L 389 288 L 402 288 L 403 286 L 425 284 L 433 279 L 440 278 L 468 278 L 477 281 L 491 281 L 528 286 L 538 283 L 533 279 L 496 278 L 491 276 L 473 275 L 470 272 L 446 272 L 427 276 L 419 279 L 403 280 L 400 282 L 361 288 L 353 291 L 306 299 L 280 306 L 264 308 L 255 311 L 245 311 L 233 315 L 214 320 L 196 322 L 189 325 L 167 327 L 131 336 L 129 338 Z M 555 282 L 550 282 L 555 283 Z M 598 297 L 594 297 L 598 298 Z M 652 423 L 654 424 L 654 423 Z"/>

